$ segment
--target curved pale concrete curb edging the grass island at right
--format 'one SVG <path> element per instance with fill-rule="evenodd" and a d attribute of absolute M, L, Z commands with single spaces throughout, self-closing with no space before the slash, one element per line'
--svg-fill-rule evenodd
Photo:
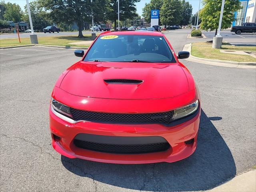
<path fill-rule="evenodd" d="M 183 51 L 190 52 L 190 57 L 187 58 L 186 60 L 192 61 L 192 62 L 214 65 L 214 66 L 222 66 L 222 67 L 256 69 L 256 62 L 224 61 L 224 60 L 214 60 L 214 59 L 206 59 L 206 58 L 199 58 L 199 57 L 192 56 L 191 55 L 191 43 L 184 45 Z"/>

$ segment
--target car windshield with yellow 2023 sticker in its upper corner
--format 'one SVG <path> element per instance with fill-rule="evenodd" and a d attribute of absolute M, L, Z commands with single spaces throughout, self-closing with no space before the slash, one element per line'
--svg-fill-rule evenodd
<path fill-rule="evenodd" d="M 176 62 L 163 36 L 106 35 L 98 38 L 84 61 Z"/>

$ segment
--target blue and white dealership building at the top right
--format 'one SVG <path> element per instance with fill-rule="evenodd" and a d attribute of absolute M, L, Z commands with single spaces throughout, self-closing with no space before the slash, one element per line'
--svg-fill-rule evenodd
<path fill-rule="evenodd" d="M 256 22 L 256 0 L 240 0 L 242 9 L 235 12 L 232 26 L 242 26 L 245 22 Z"/>

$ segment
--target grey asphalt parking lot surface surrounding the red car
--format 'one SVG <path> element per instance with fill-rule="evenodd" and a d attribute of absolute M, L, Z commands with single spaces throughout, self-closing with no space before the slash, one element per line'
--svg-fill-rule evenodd
<path fill-rule="evenodd" d="M 187 34 L 166 33 L 176 54 L 194 41 Z M 58 76 L 78 60 L 72 49 L 0 50 L 1 191 L 200 191 L 256 165 L 256 71 L 186 60 L 181 62 L 194 76 L 202 99 L 192 156 L 139 165 L 61 156 L 51 146 L 50 94 Z"/>

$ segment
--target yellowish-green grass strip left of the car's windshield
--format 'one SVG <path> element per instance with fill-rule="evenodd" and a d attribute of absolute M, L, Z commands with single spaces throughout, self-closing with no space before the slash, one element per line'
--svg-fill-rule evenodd
<path fill-rule="evenodd" d="M 6 46 L 17 46 L 17 45 L 29 45 L 30 38 L 20 38 L 21 43 L 18 38 L 16 39 L 1 39 L 0 47 Z M 84 38 L 78 38 L 77 36 L 46 36 L 46 37 L 38 37 L 38 43 L 44 45 L 59 45 L 59 46 L 74 46 L 74 47 L 89 47 L 89 45 L 72 45 L 68 44 L 71 42 L 79 42 L 79 41 L 88 41 L 93 40 L 91 35 L 84 35 Z"/>

